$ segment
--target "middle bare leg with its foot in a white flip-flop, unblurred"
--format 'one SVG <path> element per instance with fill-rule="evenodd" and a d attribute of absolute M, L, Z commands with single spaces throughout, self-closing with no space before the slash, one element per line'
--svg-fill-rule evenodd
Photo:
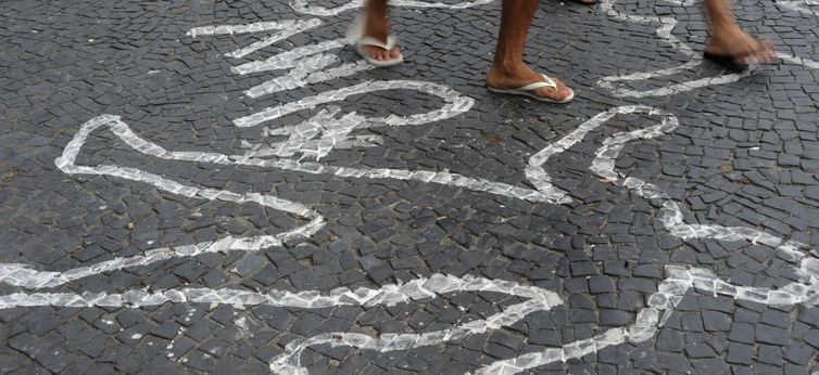
<path fill-rule="evenodd" d="M 487 76 L 487 85 L 493 89 L 515 89 L 533 82 L 544 81 L 543 77 L 524 63 L 524 44 L 529 33 L 538 0 L 503 0 L 501 33 L 492 67 Z M 532 90 L 536 96 L 552 101 L 564 101 L 574 95 L 571 89 L 553 79 L 556 88 L 543 87 Z"/>

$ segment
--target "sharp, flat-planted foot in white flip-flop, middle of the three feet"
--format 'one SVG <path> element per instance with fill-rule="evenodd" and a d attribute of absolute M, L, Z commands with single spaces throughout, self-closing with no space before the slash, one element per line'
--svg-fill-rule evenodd
<path fill-rule="evenodd" d="M 552 80 L 557 85 L 557 88 L 542 87 L 532 90 L 531 93 L 536 96 L 549 99 L 554 102 L 562 102 L 574 95 L 571 89 L 566 87 L 566 85 L 558 79 L 552 78 Z M 524 63 L 509 64 L 506 66 L 494 64 L 487 75 L 487 85 L 490 88 L 499 90 L 512 90 L 530 83 L 544 81 L 545 79 L 543 76 L 532 70 Z"/>

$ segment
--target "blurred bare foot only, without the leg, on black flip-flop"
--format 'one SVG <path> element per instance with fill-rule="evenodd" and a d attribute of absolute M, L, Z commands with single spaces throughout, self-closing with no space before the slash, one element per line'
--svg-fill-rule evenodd
<path fill-rule="evenodd" d="M 770 64 L 777 60 L 773 46 L 767 41 L 754 39 L 735 24 L 715 26 L 705 52 L 731 57 L 738 64 Z"/>

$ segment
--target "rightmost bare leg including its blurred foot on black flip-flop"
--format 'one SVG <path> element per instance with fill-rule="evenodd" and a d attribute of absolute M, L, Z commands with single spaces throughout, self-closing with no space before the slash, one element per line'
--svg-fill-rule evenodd
<path fill-rule="evenodd" d="M 705 51 L 730 57 L 734 63 L 771 63 L 777 53 L 767 41 L 757 40 L 740 28 L 727 0 L 703 0 L 710 22 L 710 38 Z"/>

